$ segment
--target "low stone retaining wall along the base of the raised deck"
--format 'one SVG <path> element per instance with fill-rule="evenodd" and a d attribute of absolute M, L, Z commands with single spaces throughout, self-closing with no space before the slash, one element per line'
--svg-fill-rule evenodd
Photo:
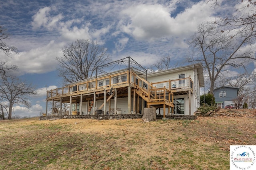
<path fill-rule="evenodd" d="M 57 115 L 57 116 L 40 116 L 39 120 L 52 120 L 52 119 L 97 119 L 97 120 L 110 120 L 110 119 L 141 119 L 142 114 L 121 114 L 121 115 Z M 162 119 L 163 115 L 156 115 L 156 119 Z M 166 115 L 167 119 L 196 119 L 194 115 Z"/>

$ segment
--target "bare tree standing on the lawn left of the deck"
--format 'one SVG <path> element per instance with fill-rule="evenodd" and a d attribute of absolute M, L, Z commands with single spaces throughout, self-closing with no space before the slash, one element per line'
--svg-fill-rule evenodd
<path fill-rule="evenodd" d="M 1 73 L 0 80 L 0 105 L 4 107 L 8 114 L 8 119 L 12 119 L 12 108 L 14 104 L 21 104 L 30 107 L 29 97 L 37 92 L 32 84 L 26 84 L 6 72 Z M 7 103 L 7 104 L 6 104 Z"/>

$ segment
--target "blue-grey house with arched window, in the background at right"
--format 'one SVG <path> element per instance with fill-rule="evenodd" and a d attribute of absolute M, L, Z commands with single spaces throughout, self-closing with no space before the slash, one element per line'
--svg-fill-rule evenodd
<path fill-rule="evenodd" d="M 239 88 L 222 86 L 213 90 L 215 104 L 218 107 L 225 108 L 225 106 L 232 104 L 234 107 L 237 104 Z"/>

